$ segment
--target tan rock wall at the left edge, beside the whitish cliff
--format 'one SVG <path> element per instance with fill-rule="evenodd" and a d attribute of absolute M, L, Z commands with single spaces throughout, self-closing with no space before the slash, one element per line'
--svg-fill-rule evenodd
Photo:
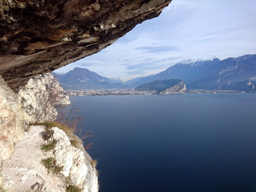
<path fill-rule="evenodd" d="M 28 116 L 22 109 L 19 95 L 0 76 L 0 171 L 3 159 L 13 154 L 15 144 L 23 140 L 24 130 L 27 128 Z M 0 176 L 0 188 L 1 186 Z"/>

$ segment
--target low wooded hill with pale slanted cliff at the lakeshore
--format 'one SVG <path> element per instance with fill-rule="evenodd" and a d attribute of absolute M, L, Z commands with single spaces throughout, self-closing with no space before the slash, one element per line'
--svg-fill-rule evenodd
<path fill-rule="evenodd" d="M 156 91 L 160 94 L 180 93 L 185 89 L 185 84 L 181 79 L 155 80 L 135 88 L 137 91 Z"/>

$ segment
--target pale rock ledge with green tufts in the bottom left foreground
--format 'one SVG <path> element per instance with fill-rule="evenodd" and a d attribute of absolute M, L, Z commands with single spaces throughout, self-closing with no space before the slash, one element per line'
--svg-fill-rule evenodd
<path fill-rule="evenodd" d="M 45 140 L 46 136 L 48 140 Z M 25 132 L 24 140 L 17 143 L 13 156 L 4 161 L 1 172 L 3 189 L 12 192 L 65 192 L 68 185 L 74 185 L 83 192 L 97 192 L 97 170 L 90 164 L 90 156 L 83 150 L 82 143 L 76 148 L 69 139 L 57 127 L 47 133 L 44 126 L 31 126 Z M 42 144 L 52 140 L 57 141 L 55 148 L 42 151 Z M 63 166 L 60 174 L 47 174 L 41 160 L 48 157 L 55 158 L 56 164 Z"/>

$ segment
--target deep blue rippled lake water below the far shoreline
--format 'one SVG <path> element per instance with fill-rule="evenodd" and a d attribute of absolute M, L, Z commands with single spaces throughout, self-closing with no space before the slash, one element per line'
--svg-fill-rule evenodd
<path fill-rule="evenodd" d="M 100 192 L 256 191 L 256 94 L 71 97 Z"/>

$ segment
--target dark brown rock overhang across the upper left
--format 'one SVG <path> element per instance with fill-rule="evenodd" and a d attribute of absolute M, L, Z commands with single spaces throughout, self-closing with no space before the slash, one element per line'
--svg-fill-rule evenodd
<path fill-rule="evenodd" d="M 2 0 L 0 74 L 9 87 L 111 45 L 172 0 Z"/>

